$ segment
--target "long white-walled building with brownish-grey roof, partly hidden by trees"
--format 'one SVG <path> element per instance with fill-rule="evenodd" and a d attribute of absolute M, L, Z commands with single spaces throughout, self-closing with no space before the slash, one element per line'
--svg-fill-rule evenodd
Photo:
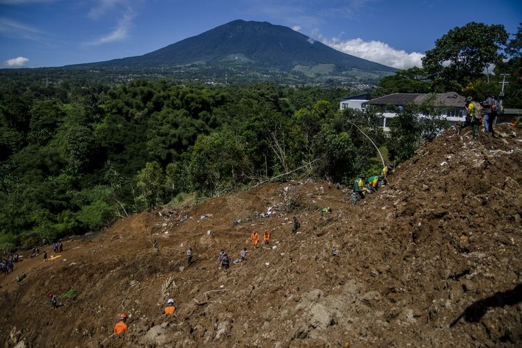
<path fill-rule="evenodd" d="M 450 125 L 454 125 L 457 121 L 464 122 L 464 118 L 466 118 L 466 98 L 455 92 L 435 94 L 393 93 L 363 102 L 361 107 L 364 108 L 367 105 L 383 107 L 383 111 L 381 112 L 381 116 L 383 117 L 381 120 L 381 126 L 383 126 L 384 132 L 389 132 L 390 120 L 397 117 L 395 109 L 402 109 L 410 103 L 422 104 L 422 102 L 425 102 L 425 100 L 431 97 L 434 98 L 434 106 L 443 109 L 441 116 L 446 118 L 450 122 Z M 391 110 L 391 108 L 386 109 L 386 106 L 395 106 L 395 108 L 394 110 Z M 422 118 L 427 117 L 428 115 L 420 113 L 418 116 L 419 118 Z"/>

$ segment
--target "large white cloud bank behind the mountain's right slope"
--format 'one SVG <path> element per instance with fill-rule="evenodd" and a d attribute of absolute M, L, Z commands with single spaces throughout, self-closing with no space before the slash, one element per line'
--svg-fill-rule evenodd
<path fill-rule="evenodd" d="M 319 35 L 319 38 L 324 45 L 328 45 L 340 52 L 398 69 L 408 69 L 414 66 L 421 68 L 421 59 L 425 56 L 425 54 L 419 52 L 408 53 L 402 49 L 394 49 L 381 41 L 364 41 L 361 38 L 345 41 L 340 41 L 336 38 L 327 40 L 321 35 Z"/>

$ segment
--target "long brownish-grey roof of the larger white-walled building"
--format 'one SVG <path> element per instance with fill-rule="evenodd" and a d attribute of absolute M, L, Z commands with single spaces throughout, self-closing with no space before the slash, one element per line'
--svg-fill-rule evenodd
<path fill-rule="evenodd" d="M 366 102 L 366 105 L 396 105 L 404 106 L 409 103 L 421 104 L 433 94 L 428 93 L 393 93 L 383 95 L 383 97 L 372 99 Z M 447 107 L 464 107 L 466 98 L 458 95 L 455 92 L 448 93 L 435 93 L 434 94 L 434 105 L 435 106 L 447 106 Z"/>

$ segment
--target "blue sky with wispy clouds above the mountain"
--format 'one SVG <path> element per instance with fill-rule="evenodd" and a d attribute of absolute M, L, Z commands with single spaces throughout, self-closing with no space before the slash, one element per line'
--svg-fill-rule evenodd
<path fill-rule="evenodd" d="M 62 66 L 138 56 L 235 19 L 288 26 L 395 68 L 420 64 L 468 22 L 516 33 L 521 0 L 0 0 L 0 65 Z"/>

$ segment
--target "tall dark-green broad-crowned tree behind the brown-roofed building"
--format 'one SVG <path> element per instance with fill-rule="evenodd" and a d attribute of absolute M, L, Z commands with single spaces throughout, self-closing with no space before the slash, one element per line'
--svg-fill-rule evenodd
<path fill-rule="evenodd" d="M 502 61 L 500 49 L 507 38 L 502 24 L 471 22 L 456 26 L 435 41 L 435 48 L 422 58 L 422 66 L 438 85 L 465 86 L 482 77 L 489 65 Z"/>

